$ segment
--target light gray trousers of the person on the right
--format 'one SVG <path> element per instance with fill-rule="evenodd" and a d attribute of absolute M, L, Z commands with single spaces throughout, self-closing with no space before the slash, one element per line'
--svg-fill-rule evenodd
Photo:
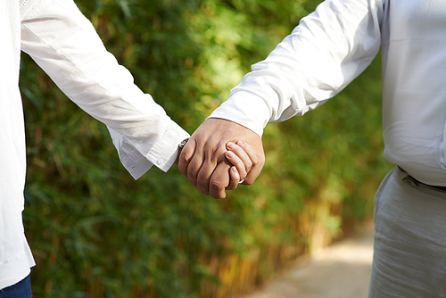
<path fill-rule="evenodd" d="M 376 193 L 375 229 L 369 298 L 446 298 L 446 191 L 393 169 Z"/>

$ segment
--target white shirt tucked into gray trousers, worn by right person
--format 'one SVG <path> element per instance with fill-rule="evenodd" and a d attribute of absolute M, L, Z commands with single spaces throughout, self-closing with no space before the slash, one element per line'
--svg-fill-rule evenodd
<path fill-rule="evenodd" d="M 268 122 L 302 115 L 340 92 L 380 46 L 384 158 L 446 186 L 444 0 L 327 0 L 252 66 L 211 117 L 261 136 Z"/>

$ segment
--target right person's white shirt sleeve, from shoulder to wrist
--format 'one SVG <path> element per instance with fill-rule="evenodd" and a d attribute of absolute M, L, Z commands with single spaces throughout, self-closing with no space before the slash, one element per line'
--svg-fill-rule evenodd
<path fill-rule="evenodd" d="M 380 0 L 326 0 L 231 90 L 211 118 L 262 135 L 268 122 L 315 109 L 365 70 L 379 51 Z"/>

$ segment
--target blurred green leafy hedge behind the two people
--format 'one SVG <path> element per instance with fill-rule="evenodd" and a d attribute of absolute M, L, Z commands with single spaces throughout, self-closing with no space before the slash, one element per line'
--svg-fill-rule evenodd
<path fill-rule="evenodd" d="M 76 0 L 105 46 L 194 132 L 319 0 Z M 269 124 L 252 186 L 214 200 L 173 166 L 135 181 L 105 126 L 25 54 L 24 221 L 35 297 L 236 297 L 373 216 L 380 57 L 340 95 Z"/>

